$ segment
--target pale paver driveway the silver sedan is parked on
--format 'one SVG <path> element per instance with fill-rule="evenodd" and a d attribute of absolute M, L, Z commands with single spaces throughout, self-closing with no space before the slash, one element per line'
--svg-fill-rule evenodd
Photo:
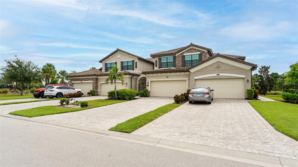
<path fill-rule="evenodd" d="M 133 134 L 296 159 L 298 141 L 276 131 L 242 99 L 184 105 Z"/>

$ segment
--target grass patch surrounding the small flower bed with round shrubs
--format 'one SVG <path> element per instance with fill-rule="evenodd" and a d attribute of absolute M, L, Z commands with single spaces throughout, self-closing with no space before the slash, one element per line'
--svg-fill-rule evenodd
<path fill-rule="evenodd" d="M 26 117 L 61 114 L 61 113 L 68 113 L 68 112 L 81 111 L 81 110 L 86 110 L 86 109 L 90 109 L 90 108 L 101 107 L 101 106 L 115 104 L 115 103 L 121 103 L 121 102 L 125 102 L 125 100 L 97 99 L 97 100 L 88 100 L 88 102 L 89 102 L 90 107 L 60 108 L 60 107 L 56 107 L 54 105 L 50 105 L 50 106 L 42 106 L 42 107 L 36 107 L 36 108 L 29 108 L 29 109 L 25 109 L 25 110 L 13 111 L 13 112 L 10 112 L 9 114 L 18 115 L 18 116 L 26 116 Z M 59 103 L 57 102 L 57 104 L 59 104 Z"/>

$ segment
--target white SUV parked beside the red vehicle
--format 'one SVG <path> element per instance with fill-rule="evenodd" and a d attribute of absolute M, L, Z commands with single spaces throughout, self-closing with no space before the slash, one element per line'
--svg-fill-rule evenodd
<path fill-rule="evenodd" d="M 61 98 L 64 94 L 67 93 L 83 93 L 82 89 L 75 89 L 71 86 L 49 86 L 45 91 L 44 95 L 49 96 L 50 98 L 57 97 Z"/>

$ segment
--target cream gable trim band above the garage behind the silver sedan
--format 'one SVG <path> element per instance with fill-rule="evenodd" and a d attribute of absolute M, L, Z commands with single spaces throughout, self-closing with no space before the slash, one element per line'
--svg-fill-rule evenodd
<path fill-rule="evenodd" d="M 209 60 L 208 62 L 205 62 L 197 67 L 194 67 L 193 69 L 190 69 L 189 71 L 191 73 L 195 72 L 195 71 L 198 71 L 204 67 L 207 67 L 209 66 L 210 64 L 213 64 L 215 62 L 223 62 L 223 63 L 226 63 L 226 64 L 230 64 L 230 65 L 233 65 L 233 66 L 236 66 L 236 67 L 239 67 L 239 68 L 243 68 L 245 70 L 250 70 L 252 68 L 252 66 L 250 65 L 247 65 L 247 64 L 242 64 L 242 63 L 239 63 L 239 62 L 235 62 L 233 60 L 229 60 L 229 59 L 225 59 L 225 58 L 222 58 L 222 57 L 216 57 L 212 60 Z"/>

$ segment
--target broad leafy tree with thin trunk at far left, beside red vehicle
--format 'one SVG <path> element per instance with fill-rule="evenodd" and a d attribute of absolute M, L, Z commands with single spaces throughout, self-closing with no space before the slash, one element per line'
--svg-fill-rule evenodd
<path fill-rule="evenodd" d="M 21 95 L 25 84 L 41 81 L 41 70 L 31 61 L 25 61 L 15 56 L 15 59 L 4 60 L 5 67 L 1 67 L 1 75 L 6 83 L 20 83 Z"/>

